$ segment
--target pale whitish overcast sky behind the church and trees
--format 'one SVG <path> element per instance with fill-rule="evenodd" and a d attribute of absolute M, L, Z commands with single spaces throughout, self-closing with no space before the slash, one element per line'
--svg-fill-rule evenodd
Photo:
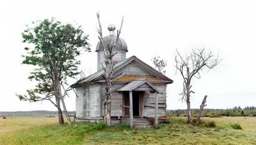
<path fill-rule="evenodd" d="M 176 48 L 185 53 L 204 46 L 219 52 L 222 65 L 202 78 L 193 80 L 191 107 L 198 108 L 208 95 L 206 108 L 256 106 L 256 1 L 64 1 L 35 0 L 0 2 L 0 111 L 56 110 L 48 102 L 21 102 L 15 93 L 26 93 L 34 82 L 27 77 L 31 66 L 21 65 L 25 54 L 21 33 L 31 21 L 55 17 L 62 23 L 82 25 L 90 35 L 93 52 L 78 59 L 87 75 L 97 70 L 98 42 L 96 12 L 101 13 L 103 35 L 108 24 L 120 27 L 124 16 L 123 38 L 128 45 L 127 57 L 136 55 L 152 66 L 150 59 L 159 55 L 168 61 L 166 75 L 174 80 L 167 87 L 167 109 L 185 109 L 178 99 L 182 79 L 175 75 Z M 72 84 L 76 80 L 70 80 Z M 66 99 L 68 110 L 75 110 L 75 96 Z"/>

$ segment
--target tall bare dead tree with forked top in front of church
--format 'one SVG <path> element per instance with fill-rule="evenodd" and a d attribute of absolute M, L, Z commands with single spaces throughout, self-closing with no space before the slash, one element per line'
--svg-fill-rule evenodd
<path fill-rule="evenodd" d="M 99 12 L 97 13 L 97 18 L 98 18 L 98 23 L 99 23 L 99 28 L 97 28 L 97 32 L 99 34 L 98 38 L 101 42 L 101 45 L 105 51 L 104 53 L 104 57 L 105 57 L 105 66 L 102 65 L 103 70 L 105 71 L 105 74 L 102 75 L 102 77 L 105 79 L 106 82 L 106 86 L 105 86 L 105 91 L 106 91 L 106 99 L 104 102 L 104 106 L 105 106 L 105 115 L 104 115 L 104 122 L 106 125 L 110 126 L 111 125 L 111 94 L 112 94 L 112 86 L 114 85 L 114 83 L 120 78 L 122 77 L 121 74 L 116 76 L 117 79 L 115 81 L 113 81 L 113 68 L 114 68 L 114 62 L 113 62 L 113 57 L 114 55 L 116 55 L 116 53 L 114 53 L 116 44 L 118 43 L 119 40 L 119 35 L 121 33 L 121 29 L 123 26 L 123 21 L 124 21 L 124 17 L 121 21 L 121 26 L 120 29 L 117 30 L 117 37 L 113 42 L 113 46 L 109 46 L 108 44 L 104 44 L 103 42 L 103 36 L 102 36 L 102 27 L 101 27 L 101 23 L 99 20 Z"/>

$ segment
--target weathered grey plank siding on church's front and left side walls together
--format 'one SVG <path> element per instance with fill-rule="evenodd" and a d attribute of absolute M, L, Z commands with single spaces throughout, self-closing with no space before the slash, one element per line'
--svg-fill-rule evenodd
<path fill-rule="evenodd" d="M 135 76 L 135 77 L 149 77 L 156 78 L 154 75 L 149 73 L 144 68 L 138 66 L 136 63 L 130 63 L 121 70 L 117 71 L 114 75 L 123 73 L 127 76 Z M 118 82 L 116 83 L 112 90 L 112 98 L 111 98 L 111 116 L 122 116 L 123 109 L 120 105 L 123 105 L 123 92 L 116 92 L 117 89 L 126 85 L 128 82 Z M 154 84 L 155 87 L 163 94 L 158 94 L 158 116 L 166 115 L 166 84 Z M 104 102 L 105 102 L 105 83 L 100 84 L 91 84 L 87 85 L 83 88 L 77 88 L 77 93 L 79 95 L 78 100 L 76 101 L 76 114 L 78 118 L 84 119 L 100 119 L 104 116 Z M 148 91 L 153 91 L 148 85 L 143 84 L 139 88 L 135 89 L 135 91 L 145 90 L 143 96 L 143 104 L 150 104 L 155 106 L 155 95 L 154 93 L 149 93 Z M 84 97 L 83 97 L 84 96 Z M 81 98 L 81 99 L 80 99 Z M 85 99 L 83 99 L 85 98 Z M 83 103 L 86 102 L 86 106 L 84 107 Z M 144 106 L 143 105 L 143 106 Z M 150 106 L 149 105 L 149 106 Z M 146 117 L 154 117 L 155 109 L 154 107 L 144 106 L 143 116 Z"/>

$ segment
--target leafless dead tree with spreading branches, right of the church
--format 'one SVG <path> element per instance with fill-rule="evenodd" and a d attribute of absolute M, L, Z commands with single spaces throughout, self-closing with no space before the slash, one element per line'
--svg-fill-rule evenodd
<path fill-rule="evenodd" d="M 203 70 L 210 70 L 216 67 L 221 62 L 221 59 L 219 59 L 218 54 L 214 55 L 212 51 L 207 51 L 204 47 L 194 48 L 189 55 L 185 56 L 180 55 L 177 49 L 176 51 L 176 74 L 179 72 L 183 78 L 183 91 L 180 94 L 182 95 L 181 100 L 187 103 L 188 122 L 192 123 L 190 97 L 191 93 L 195 92 L 191 90 L 191 80 L 193 78 L 200 79 L 200 73 L 202 73 Z M 197 119 L 200 119 L 200 117 Z"/>

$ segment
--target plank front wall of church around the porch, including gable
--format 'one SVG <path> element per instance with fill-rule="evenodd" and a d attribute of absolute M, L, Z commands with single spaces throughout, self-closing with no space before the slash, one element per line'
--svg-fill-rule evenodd
<path fill-rule="evenodd" d="M 113 86 L 113 93 L 112 93 L 112 98 L 111 98 L 111 116 L 122 116 L 122 107 L 120 105 L 123 105 L 123 93 L 122 92 L 115 92 L 115 90 L 119 89 L 120 87 L 124 86 L 126 83 L 121 83 L 121 82 L 130 82 L 133 79 L 137 79 L 137 78 L 146 78 L 148 81 L 150 82 L 161 82 L 162 79 L 155 77 L 154 75 L 152 75 L 151 73 L 149 73 L 148 71 L 144 70 L 142 67 L 138 66 L 136 63 L 129 63 L 127 64 L 127 66 L 125 66 L 124 68 L 122 68 L 121 70 L 117 71 L 115 75 L 117 74 L 125 74 L 125 77 L 120 78 L 118 81 L 120 83 L 116 83 Z M 153 84 L 155 85 L 155 84 Z M 161 91 L 163 94 L 158 94 L 158 103 L 166 103 L 166 84 L 156 84 L 155 85 L 159 91 Z M 142 86 L 140 86 L 137 91 L 139 91 L 139 89 L 144 89 L 147 91 L 152 91 L 151 88 L 149 88 L 146 84 L 143 84 Z M 136 91 L 136 90 L 135 90 Z M 153 105 L 155 104 L 155 97 L 154 97 L 154 93 L 151 94 L 148 92 L 145 93 L 145 101 L 144 104 L 147 103 L 152 103 Z M 105 84 L 101 84 L 101 116 L 104 116 L 104 101 L 105 101 Z M 144 99 L 144 98 L 143 98 Z M 161 105 L 159 105 L 161 106 Z M 154 108 L 152 107 L 145 107 L 144 108 L 144 115 L 148 116 L 148 117 L 154 117 Z M 159 116 L 164 116 L 166 115 L 166 107 L 161 107 L 159 108 L 158 114 Z"/>

